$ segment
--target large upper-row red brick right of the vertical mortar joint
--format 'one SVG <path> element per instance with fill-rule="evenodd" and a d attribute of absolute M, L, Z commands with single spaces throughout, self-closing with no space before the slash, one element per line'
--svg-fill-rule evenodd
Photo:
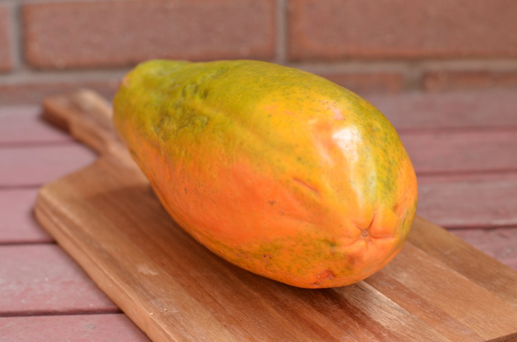
<path fill-rule="evenodd" d="M 513 0 L 291 0 L 293 60 L 517 55 Z"/>

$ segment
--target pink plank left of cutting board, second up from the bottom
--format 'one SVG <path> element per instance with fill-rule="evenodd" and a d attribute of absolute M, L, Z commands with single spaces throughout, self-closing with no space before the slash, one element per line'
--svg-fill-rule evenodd
<path fill-rule="evenodd" d="M 0 316 L 118 312 L 55 244 L 0 246 Z"/>

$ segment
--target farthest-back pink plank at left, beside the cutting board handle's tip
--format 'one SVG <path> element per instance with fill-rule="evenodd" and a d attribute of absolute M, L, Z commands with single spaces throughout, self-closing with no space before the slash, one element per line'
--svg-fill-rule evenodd
<path fill-rule="evenodd" d="M 39 106 L 0 107 L 0 146 L 69 142 L 72 138 L 40 119 Z"/>

